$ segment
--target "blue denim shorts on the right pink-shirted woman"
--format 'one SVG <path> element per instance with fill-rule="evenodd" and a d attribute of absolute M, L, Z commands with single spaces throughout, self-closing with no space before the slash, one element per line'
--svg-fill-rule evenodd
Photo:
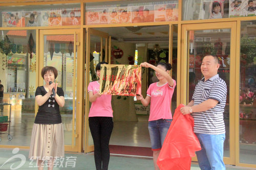
<path fill-rule="evenodd" d="M 148 122 L 152 151 L 160 151 L 172 119 L 158 119 Z"/>

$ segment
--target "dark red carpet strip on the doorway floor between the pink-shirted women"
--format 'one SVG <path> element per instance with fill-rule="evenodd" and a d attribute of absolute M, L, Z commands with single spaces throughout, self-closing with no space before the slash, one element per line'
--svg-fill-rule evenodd
<path fill-rule="evenodd" d="M 110 145 L 110 153 L 138 156 L 153 156 L 153 151 L 151 150 L 151 148 L 127 147 L 121 145 Z"/>

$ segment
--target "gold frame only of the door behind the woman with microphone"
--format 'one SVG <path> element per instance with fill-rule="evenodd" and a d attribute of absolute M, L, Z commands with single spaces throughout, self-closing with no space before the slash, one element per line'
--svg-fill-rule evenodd
<path fill-rule="evenodd" d="M 74 35 L 74 75 L 77 75 L 77 77 L 74 76 L 73 79 L 73 108 L 76 108 L 76 128 L 75 125 L 75 109 L 73 109 L 73 121 L 72 121 L 72 145 L 65 145 L 65 151 L 73 151 L 73 152 L 80 152 L 79 148 L 81 148 L 81 134 L 82 134 L 82 95 L 79 92 L 79 89 L 82 89 L 82 71 L 76 71 L 81 68 L 82 64 L 82 56 L 81 54 L 81 48 L 80 48 L 80 29 L 66 29 L 65 31 L 54 29 L 54 30 L 39 30 L 39 56 L 37 59 L 38 63 L 38 69 L 37 69 L 37 80 L 36 80 L 36 86 L 43 85 L 43 80 L 41 79 L 40 70 L 42 67 L 44 67 L 44 36 L 45 35 Z M 77 51 L 77 56 L 76 52 Z M 77 61 L 76 61 L 77 60 Z M 77 66 L 76 66 L 77 64 Z M 76 79 L 77 78 L 77 79 Z M 76 81 L 77 82 L 76 82 Z M 75 89 L 76 88 L 76 89 Z M 76 101 L 75 101 L 76 96 Z M 35 114 L 38 110 L 37 104 L 35 105 Z M 76 138 L 74 142 L 74 138 Z"/>

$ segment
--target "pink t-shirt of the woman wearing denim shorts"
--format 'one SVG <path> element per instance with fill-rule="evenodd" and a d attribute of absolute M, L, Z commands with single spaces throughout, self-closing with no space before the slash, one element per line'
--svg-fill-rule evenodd
<path fill-rule="evenodd" d="M 161 86 L 158 86 L 158 82 L 152 83 L 148 87 L 146 94 L 151 97 L 150 118 L 148 121 L 173 118 L 172 111 L 170 111 L 170 103 L 176 86 L 176 81 L 174 79 L 173 81 L 173 87 L 170 87 L 167 82 Z"/>

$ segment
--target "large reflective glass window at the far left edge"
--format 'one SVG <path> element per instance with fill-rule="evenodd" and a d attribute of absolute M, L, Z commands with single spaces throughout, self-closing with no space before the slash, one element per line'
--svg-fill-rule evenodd
<path fill-rule="evenodd" d="M 8 116 L 11 138 L 1 132 L 1 144 L 30 144 L 35 112 L 36 31 L 6 30 L 0 38 L 0 80 L 4 94 L 0 100 L 0 116 Z M 11 117 L 9 117 L 11 104 Z M 3 123 L 3 122 L 1 122 Z M 2 125 L 1 125 L 2 126 Z"/>

